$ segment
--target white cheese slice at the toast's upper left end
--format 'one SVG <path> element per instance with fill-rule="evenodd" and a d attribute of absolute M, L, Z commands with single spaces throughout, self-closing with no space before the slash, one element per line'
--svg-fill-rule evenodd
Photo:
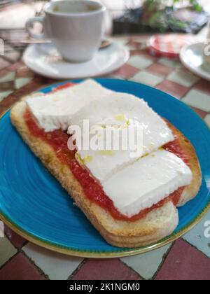
<path fill-rule="evenodd" d="M 27 106 L 45 132 L 67 130 L 73 114 L 111 92 L 94 80 L 85 80 L 64 90 L 31 97 Z"/>

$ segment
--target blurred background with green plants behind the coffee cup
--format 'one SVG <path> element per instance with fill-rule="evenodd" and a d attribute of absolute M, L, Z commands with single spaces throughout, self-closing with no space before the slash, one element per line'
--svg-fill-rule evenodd
<path fill-rule="evenodd" d="M 197 34 L 207 25 L 210 15 L 209 0 L 99 1 L 107 7 L 108 36 L 156 32 Z M 0 0 L 0 38 L 7 53 L 14 48 L 21 52 L 30 43 L 25 23 L 33 16 L 43 15 L 45 3 L 45 0 Z M 34 30 L 41 29 L 35 24 Z"/>

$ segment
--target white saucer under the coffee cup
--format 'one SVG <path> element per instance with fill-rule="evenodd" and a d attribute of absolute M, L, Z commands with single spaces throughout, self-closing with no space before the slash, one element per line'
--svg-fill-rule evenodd
<path fill-rule="evenodd" d="M 25 64 L 48 78 L 71 79 L 102 76 L 120 68 L 130 57 L 130 51 L 120 43 L 99 50 L 85 63 L 65 62 L 52 44 L 29 45 L 23 55 Z"/>

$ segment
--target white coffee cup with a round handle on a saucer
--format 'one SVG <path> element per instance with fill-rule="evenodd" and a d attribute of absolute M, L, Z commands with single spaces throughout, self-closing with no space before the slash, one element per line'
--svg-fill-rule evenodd
<path fill-rule="evenodd" d="M 50 38 L 66 61 L 86 62 L 101 45 L 105 10 L 97 1 L 54 1 L 45 5 L 44 18 L 31 18 L 26 28 L 32 38 Z M 34 22 L 43 24 L 43 34 L 31 31 Z"/>

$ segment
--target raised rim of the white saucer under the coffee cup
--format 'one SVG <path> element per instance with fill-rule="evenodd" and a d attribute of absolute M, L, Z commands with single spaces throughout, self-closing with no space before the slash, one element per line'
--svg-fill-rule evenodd
<path fill-rule="evenodd" d="M 89 74 L 88 77 L 87 76 L 68 76 L 68 77 L 61 77 L 59 75 L 53 75 L 53 74 L 43 74 L 43 71 L 39 70 L 39 69 L 34 69 L 33 66 L 31 66 L 31 64 L 29 64 L 29 62 L 27 62 L 27 52 L 32 48 L 36 48 L 36 45 L 39 45 L 39 44 L 31 44 L 29 45 L 26 49 L 25 49 L 25 52 L 23 53 L 23 56 L 22 56 L 22 60 L 23 62 L 29 67 L 29 69 L 31 69 L 31 71 L 34 71 L 35 73 L 41 75 L 41 76 L 45 76 L 47 78 L 51 78 L 53 80 L 73 80 L 73 79 L 84 79 L 84 78 L 94 78 L 96 76 L 104 76 L 104 75 L 107 75 L 109 73 L 113 73 L 114 71 L 118 70 L 121 66 L 123 66 L 123 64 L 125 64 L 127 62 L 127 60 L 130 58 L 130 50 L 125 46 L 125 45 L 121 45 L 120 43 L 118 42 L 113 42 L 113 44 L 117 44 L 118 45 L 118 49 L 121 49 L 124 51 L 125 53 L 125 57 L 122 59 L 119 60 L 119 66 L 116 66 L 115 69 L 111 69 L 111 70 L 108 70 L 108 69 L 105 69 L 104 71 L 102 72 L 98 72 L 98 73 L 95 73 L 95 74 Z M 112 45 L 113 45 L 112 44 Z M 106 50 L 106 48 L 102 49 L 102 50 Z"/>

